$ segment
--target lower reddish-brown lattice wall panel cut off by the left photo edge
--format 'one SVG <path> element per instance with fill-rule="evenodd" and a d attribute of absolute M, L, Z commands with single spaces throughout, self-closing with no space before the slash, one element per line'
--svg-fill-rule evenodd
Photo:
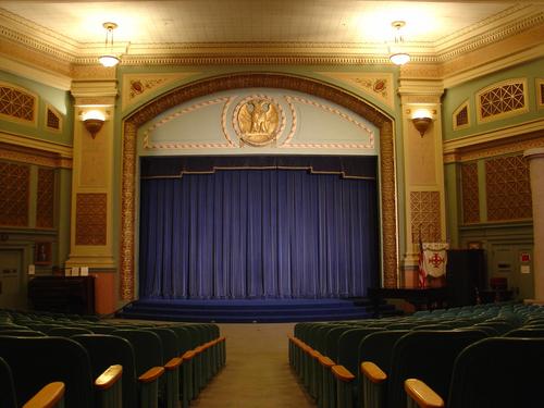
<path fill-rule="evenodd" d="M 28 165 L 0 162 L 0 225 L 28 226 Z"/>

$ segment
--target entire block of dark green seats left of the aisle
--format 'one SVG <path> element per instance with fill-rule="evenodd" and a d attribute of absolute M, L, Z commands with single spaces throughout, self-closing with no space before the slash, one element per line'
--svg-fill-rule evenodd
<path fill-rule="evenodd" d="M 13 384 L 5 406 L 52 383 L 51 407 L 185 408 L 225 364 L 225 343 L 215 324 L 0 311 L 0 358 Z"/>

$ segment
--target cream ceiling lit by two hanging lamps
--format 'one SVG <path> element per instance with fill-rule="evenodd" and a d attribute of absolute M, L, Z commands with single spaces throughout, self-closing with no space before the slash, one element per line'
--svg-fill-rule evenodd
<path fill-rule="evenodd" d="M 115 50 L 128 55 L 240 47 L 386 55 L 394 39 L 391 23 L 403 20 L 404 46 L 432 57 L 477 37 L 495 38 L 500 27 L 543 13 L 544 1 L 0 0 L 0 28 L 4 36 L 24 34 L 75 59 L 101 53 L 104 22 L 119 25 Z"/>

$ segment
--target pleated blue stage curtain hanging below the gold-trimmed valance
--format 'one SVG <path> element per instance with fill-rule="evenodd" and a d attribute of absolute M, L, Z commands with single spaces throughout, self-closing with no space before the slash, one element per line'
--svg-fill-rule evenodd
<path fill-rule="evenodd" d="M 141 180 L 140 297 L 364 296 L 379 275 L 375 183 L 295 170 Z"/>

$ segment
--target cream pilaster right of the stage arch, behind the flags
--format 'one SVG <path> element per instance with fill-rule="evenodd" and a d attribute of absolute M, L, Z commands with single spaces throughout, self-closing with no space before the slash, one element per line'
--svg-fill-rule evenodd
<path fill-rule="evenodd" d="M 446 239 L 445 186 L 442 139 L 441 81 L 400 79 L 403 121 L 404 236 L 399 285 L 417 287 L 419 240 Z M 425 112 L 431 123 L 423 135 L 412 119 Z"/>

